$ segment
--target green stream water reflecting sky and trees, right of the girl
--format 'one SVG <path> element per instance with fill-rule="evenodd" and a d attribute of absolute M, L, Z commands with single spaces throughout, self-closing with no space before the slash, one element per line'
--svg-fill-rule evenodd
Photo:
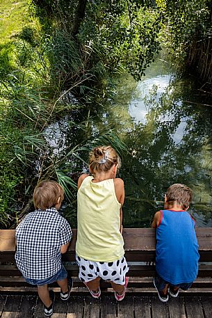
<path fill-rule="evenodd" d="M 96 110 L 93 127 L 113 127 L 129 148 L 120 170 L 124 227 L 149 227 L 173 183 L 193 189 L 190 212 L 197 226 L 211 227 L 212 107 L 202 105 L 209 100 L 193 78 L 177 79 L 160 60 L 139 83 L 123 75 L 115 93 Z"/>

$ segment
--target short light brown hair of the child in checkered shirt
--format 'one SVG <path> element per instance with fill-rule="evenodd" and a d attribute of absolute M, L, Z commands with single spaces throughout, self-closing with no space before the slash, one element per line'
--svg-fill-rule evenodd
<path fill-rule="evenodd" d="M 56 181 L 44 180 L 35 186 L 33 193 L 33 202 L 35 209 L 49 209 L 55 207 L 58 203 L 64 199 L 64 191 L 62 186 Z"/>

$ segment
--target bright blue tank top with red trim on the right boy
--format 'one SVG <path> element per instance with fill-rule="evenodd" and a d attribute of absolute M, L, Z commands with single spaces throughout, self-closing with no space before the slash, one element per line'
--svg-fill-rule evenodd
<path fill-rule="evenodd" d="M 156 229 L 156 271 L 172 285 L 191 283 L 198 272 L 195 221 L 186 211 L 161 211 Z"/>

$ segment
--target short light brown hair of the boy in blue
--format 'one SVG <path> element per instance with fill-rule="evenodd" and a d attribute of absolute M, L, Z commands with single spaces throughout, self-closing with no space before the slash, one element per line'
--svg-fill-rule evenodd
<path fill-rule="evenodd" d="M 192 200 L 192 190 L 185 184 L 172 184 L 166 191 L 167 202 L 176 201 L 183 209 L 188 208 Z"/>

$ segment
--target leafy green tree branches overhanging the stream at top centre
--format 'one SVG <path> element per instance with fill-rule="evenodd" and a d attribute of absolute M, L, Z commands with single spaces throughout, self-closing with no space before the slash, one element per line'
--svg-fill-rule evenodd
<path fill-rule="evenodd" d="M 51 8 L 57 22 L 79 41 L 89 65 L 101 63 L 111 72 L 124 66 L 138 80 L 160 49 L 163 13 L 155 1 L 45 0 L 41 6 Z"/>

